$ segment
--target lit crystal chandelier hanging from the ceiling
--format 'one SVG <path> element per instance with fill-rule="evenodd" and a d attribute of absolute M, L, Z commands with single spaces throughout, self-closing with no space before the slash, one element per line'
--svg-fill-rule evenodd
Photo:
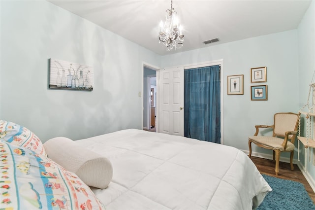
<path fill-rule="evenodd" d="M 171 9 L 166 10 L 165 16 L 165 22 L 160 22 L 159 43 L 162 42 L 166 46 L 166 51 L 173 48 L 179 49 L 183 46 L 184 35 L 182 34 L 182 27 L 178 23 L 177 12 L 173 8 L 173 0 L 171 0 Z"/>

